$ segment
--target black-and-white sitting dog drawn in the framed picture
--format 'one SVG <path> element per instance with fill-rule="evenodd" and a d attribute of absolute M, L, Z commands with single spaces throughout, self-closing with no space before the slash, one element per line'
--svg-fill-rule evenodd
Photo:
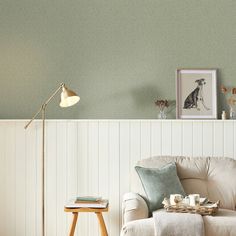
<path fill-rule="evenodd" d="M 206 84 L 205 79 L 198 79 L 195 81 L 195 83 L 197 83 L 197 87 L 185 99 L 183 109 L 196 108 L 200 111 L 198 103 L 201 102 L 206 110 L 210 110 L 210 108 L 208 108 L 204 102 L 203 86 Z"/>

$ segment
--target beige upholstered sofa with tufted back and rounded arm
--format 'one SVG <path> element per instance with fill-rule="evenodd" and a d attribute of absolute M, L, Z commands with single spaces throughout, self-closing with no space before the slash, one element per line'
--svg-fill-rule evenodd
<path fill-rule="evenodd" d="M 137 163 L 139 166 L 160 168 L 176 162 L 178 176 L 187 194 L 200 193 L 212 201 L 220 200 L 216 216 L 204 216 L 205 236 L 236 236 L 236 160 L 212 157 L 152 157 Z M 148 207 L 142 186 L 124 195 L 122 203 L 123 227 L 121 236 L 154 236 L 153 218 L 148 218 Z M 174 214 L 174 213 L 169 213 Z"/>

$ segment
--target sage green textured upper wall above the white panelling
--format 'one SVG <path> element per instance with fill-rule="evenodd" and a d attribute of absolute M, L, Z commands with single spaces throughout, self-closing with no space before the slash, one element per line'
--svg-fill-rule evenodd
<path fill-rule="evenodd" d="M 30 118 L 63 81 L 81 102 L 48 118 L 156 118 L 179 67 L 236 86 L 236 1 L 0 1 L 0 118 Z"/>

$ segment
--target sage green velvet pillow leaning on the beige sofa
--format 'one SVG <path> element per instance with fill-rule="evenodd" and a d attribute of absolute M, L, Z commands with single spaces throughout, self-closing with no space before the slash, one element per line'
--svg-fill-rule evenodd
<path fill-rule="evenodd" d="M 177 175 L 175 163 L 169 163 L 161 169 L 135 166 L 147 195 L 150 213 L 163 208 L 162 201 L 170 194 L 182 194 L 184 189 Z"/>

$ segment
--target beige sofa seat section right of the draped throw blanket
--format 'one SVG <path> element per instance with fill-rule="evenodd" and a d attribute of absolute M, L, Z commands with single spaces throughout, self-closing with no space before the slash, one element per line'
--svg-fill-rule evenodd
<path fill-rule="evenodd" d="M 219 209 L 216 216 L 204 216 L 206 236 L 235 236 L 236 211 Z"/>

